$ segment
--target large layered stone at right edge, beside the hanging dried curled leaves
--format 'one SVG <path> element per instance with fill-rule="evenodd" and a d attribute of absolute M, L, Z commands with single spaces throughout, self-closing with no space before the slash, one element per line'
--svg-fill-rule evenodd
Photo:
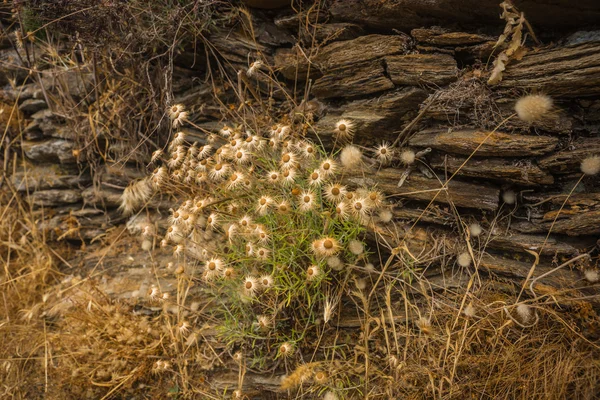
<path fill-rule="evenodd" d="M 600 94 L 600 39 L 527 54 L 508 65 L 498 85 L 543 91 L 553 96 Z"/>

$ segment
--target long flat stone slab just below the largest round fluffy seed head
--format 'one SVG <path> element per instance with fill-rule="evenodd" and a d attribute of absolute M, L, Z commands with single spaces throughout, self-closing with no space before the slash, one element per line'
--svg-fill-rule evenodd
<path fill-rule="evenodd" d="M 558 139 L 548 136 L 518 135 L 479 130 L 454 132 L 428 130 L 414 135 L 411 146 L 432 147 L 447 153 L 471 155 L 477 147 L 476 156 L 524 157 L 549 153 L 558 144 Z"/>

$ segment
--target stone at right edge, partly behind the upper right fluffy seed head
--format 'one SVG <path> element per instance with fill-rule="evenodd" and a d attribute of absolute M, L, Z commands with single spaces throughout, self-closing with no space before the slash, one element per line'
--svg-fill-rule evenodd
<path fill-rule="evenodd" d="M 600 154 L 600 138 L 581 137 L 566 149 L 540 159 L 539 165 L 556 174 L 579 172 L 581 161 L 591 154 Z"/>

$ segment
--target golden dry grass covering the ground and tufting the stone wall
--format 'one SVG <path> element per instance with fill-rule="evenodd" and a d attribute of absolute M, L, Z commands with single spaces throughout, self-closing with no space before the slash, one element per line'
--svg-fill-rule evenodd
<path fill-rule="evenodd" d="M 308 21 L 303 23 L 310 30 Z M 50 41 L 46 45 L 56 47 Z M 169 85 L 160 90 L 148 85 L 145 66 L 120 68 L 110 54 L 78 56 L 54 52 L 48 63 L 67 63 L 82 77 L 92 76 L 89 94 L 97 97 L 82 107 L 80 99 L 58 92 L 52 103 L 78 132 L 90 162 L 125 163 L 140 152 L 138 145 L 146 151 L 162 147 L 152 137 L 169 130 L 161 122 L 167 95 L 156 97 L 168 93 Z M 228 86 L 244 100 L 233 109 L 222 104 L 229 120 L 263 126 L 287 114 L 268 112 L 272 99 L 262 97 L 265 87 L 283 91 L 270 66 L 263 86 L 253 86 L 228 78 L 226 64 L 213 66 L 213 87 L 229 79 Z M 112 74 L 119 79 L 109 79 Z M 299 103 L 293 98 L 286 99 L 290 109 Z M 445 115 L 452 114 L 448 108 L 468 109 L 482 126 L 499 123 L 489 93 L 476 80 L 451 86 L 438 101 Z M 300 121 L 297 130 L 310 131 L 311 118 Z M 129 144 L 115 149 L 122 138 Z M 15 144 L 20 138 L 11 140 Z M 519 300 L 521 287 L 514 282 L 477 268 L 451 269 L 457 248 L 471 246 L 466 232 L 460 243 L 441 240 L 429 253 L 418 254 L 400 245 L 407 237 L 398 234 L 403 228 L 378 225 L 372 255 L 365 260 L 375 264 L 374 271 L 364 262 L 350 266 L 336 275 L 327 286 L 331 292 L 323 293 L 304 320 L 292 310 L 289 314 L 301 322 L 290 326 L 302 331 L 303 339 L 295 357 L 276 358 L 273 344 L 286 340 L 287 326 L 266 339 L 249 330 L 224 334 L 217 329 L 231 326 L 224 320 L 243 316 L 214 312 L 219 299 L 188 274 L 176 273 L 164 250 L 143 252 L 138 233 L 119 229 L 103 243 L 79 249 L 49 241 L 38 228 L 45 216 L 10 186 L 8 167 L 16 165 L 19 154 L 6 154 L 0 178 L 0 397 L 219 399 L 235 396 L 236 389 L 242 396 L 264 398 L 322 398 L 328 392 L 368 399 L 599 396 L 600 318 L 589 299 L 565 292 Z M 174 197 L 184 189 L 172 188 Z M 462 217 L 455 217 L 462 226 Z M 485 245 L 473 247 L 476 256 L 485 252 Z M 149 286 L 135 296 L 130 289 L 107 292 L 106 281 L 126 274 L 127 253 L 139 257 L 135 266 L 148 266 L 156 291 Z M 131 296 L 122 296 L 125 292 Z M 170 296 L 162 298 L 163 293 Z M 322 320 L 325 299 L 334 304 L 329 322 Z M 531 306 L 531 319 L 517 313 L 519 301 Z M 257 344 L 260 340 L 268 346 Z"/>

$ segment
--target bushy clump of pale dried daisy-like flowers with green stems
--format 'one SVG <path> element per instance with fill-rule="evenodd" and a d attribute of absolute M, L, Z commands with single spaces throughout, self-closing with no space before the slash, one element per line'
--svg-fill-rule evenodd
<path fill-rule="evenodd" d="M 189 122 L 181 105 L 169 114 L 173 126 Z M 339 161 L 283 123 L 224 126 L 200 145 L 180 131 L 165 155 L 155 153 L 162 165 L 123 194 L 127 211 L 145 204 L 150 187 L 179 199 L 158 240 L 172 249 L 173 273 L 185 282 L 179 306 L 193 300 L 186 299 L 188 285 L 211 293 L 222 337 L 243 350 L 251 368 L 279 358 L 298 363 L 315 327 L 335 314 L 331 299 L 341 296 L 352 266 L 368 262 L 364 226 L 384 198 L 375 188 L 342 183 L 361 157 L 347 149 Z M 321 385 L 330 383 L 319 376 Z"/>

